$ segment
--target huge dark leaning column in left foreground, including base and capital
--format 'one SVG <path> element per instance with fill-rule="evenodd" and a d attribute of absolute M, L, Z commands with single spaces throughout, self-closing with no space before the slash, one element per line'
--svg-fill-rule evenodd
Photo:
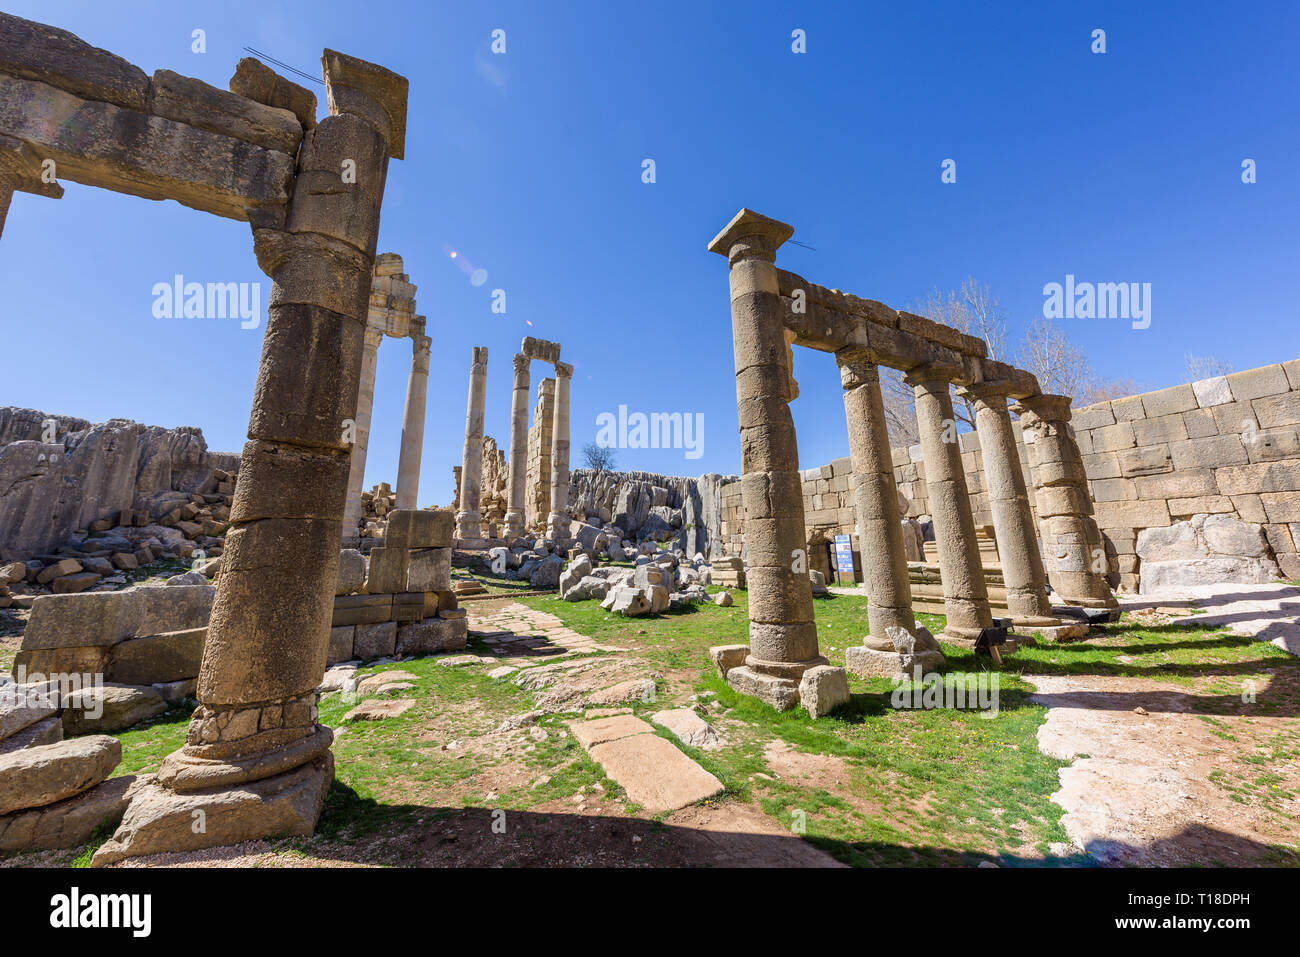
<path fill-rule="evenodd" d="M 334 775 L 325 674 L 367 304 L 407 82 L 325 51 L 332 116 L 304 134 L 286 220 L 254 221 L 273 280 L 248 443 L 185 746 L 95 863 L 311 833 Z M 356 181 L 341 183 L 352 161 Z"/>

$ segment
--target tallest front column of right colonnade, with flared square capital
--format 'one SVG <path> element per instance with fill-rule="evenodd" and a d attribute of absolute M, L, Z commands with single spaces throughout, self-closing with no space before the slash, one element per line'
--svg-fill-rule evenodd
<path fill-rule="evenodd" d="M 727 672 L 727 681 L 780 709 L 798 701 L 805 671 L 826 664 L 812 615 L 800 455 L 788 404 L 794 385 L 774 261 L 793 231 L 742 209 L 708 244 L 731 268 L 749 583 L 749 657 Z"/>

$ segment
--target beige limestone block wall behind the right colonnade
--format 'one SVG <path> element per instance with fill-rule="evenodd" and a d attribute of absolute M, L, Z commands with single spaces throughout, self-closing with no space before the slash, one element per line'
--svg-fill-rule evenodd
<path fill-rule="evenodd" d="M 1112 585 L 1139 590 L 1144 562 L 1148 584 L 1192 584 L 1197 570 L 1218 580 L 1300 577 L 1300 359 L 1075 408 L 1071 425 Z M 1032 501 L 1018 421 L 1014 432 Z M 958 441 L 975 523 L 991 525 L 979 437 Z M 906 515 L 924 521 L 920 446 L 894 449 L 893 463 Z M 801 475 L 809 540 L 854 534 L 849 459 Z M 738 555 L 738 482 L 720 503 L 722 542 Z"/>

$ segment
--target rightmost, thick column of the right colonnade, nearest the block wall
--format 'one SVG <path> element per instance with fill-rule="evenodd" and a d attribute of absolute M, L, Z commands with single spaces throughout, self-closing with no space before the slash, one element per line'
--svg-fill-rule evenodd
<path fill-rule="evenodd" d="M 1035 395 L 1015 406 L 1030 450 L 1039 531 L 1053 590 L 1066 605 L 1115 609 L 1106 551 L 1092 514 L 1083 456 L 1070 429 L 1069 395 Z"/>

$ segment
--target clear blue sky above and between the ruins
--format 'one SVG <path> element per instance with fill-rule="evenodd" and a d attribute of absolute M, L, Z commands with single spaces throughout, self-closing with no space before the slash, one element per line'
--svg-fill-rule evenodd
<path fill-rule="evenodd" d="M 523 335 L 576 365 L 575 459 L 624 403 L 702 413 L 705 443 L 698 459 L 620 450 L 620 468 L 737 472 L 727 268 L 705 246 L 745 205 L 815 247 L 777 259 L 814 282 L 906 308 L 974 276 L 1015 332 L 1067 273 L 1149 282 L 1149 329 L 1065 322 L 1109 378 L 1174 385 L 1188 351 L 1238 369 L 1300 355 L 1295 4 L 4 7 L 222 88 L 244 46 L 313 74 L 333 47 L 410 78 L 380 250 L 404 257 L 434 342 L 421 505 L 452 494 L 472 346 L 490 350 L 486 430 L 507 445 Z M 248 226 L 65 187 L 17 194 L 0 241 L 0 404 L 199 425 L 240 449 L 264 321 L 155 319 L 151 290 L 176 273 L 260 281 L 265 308 Z M 407 342 L 385 342 L 367 485 L 395 481 L 408 363 Z M 845 455 L 832 359 L 800 350 L 796 376 L 802 464 Z"/>

